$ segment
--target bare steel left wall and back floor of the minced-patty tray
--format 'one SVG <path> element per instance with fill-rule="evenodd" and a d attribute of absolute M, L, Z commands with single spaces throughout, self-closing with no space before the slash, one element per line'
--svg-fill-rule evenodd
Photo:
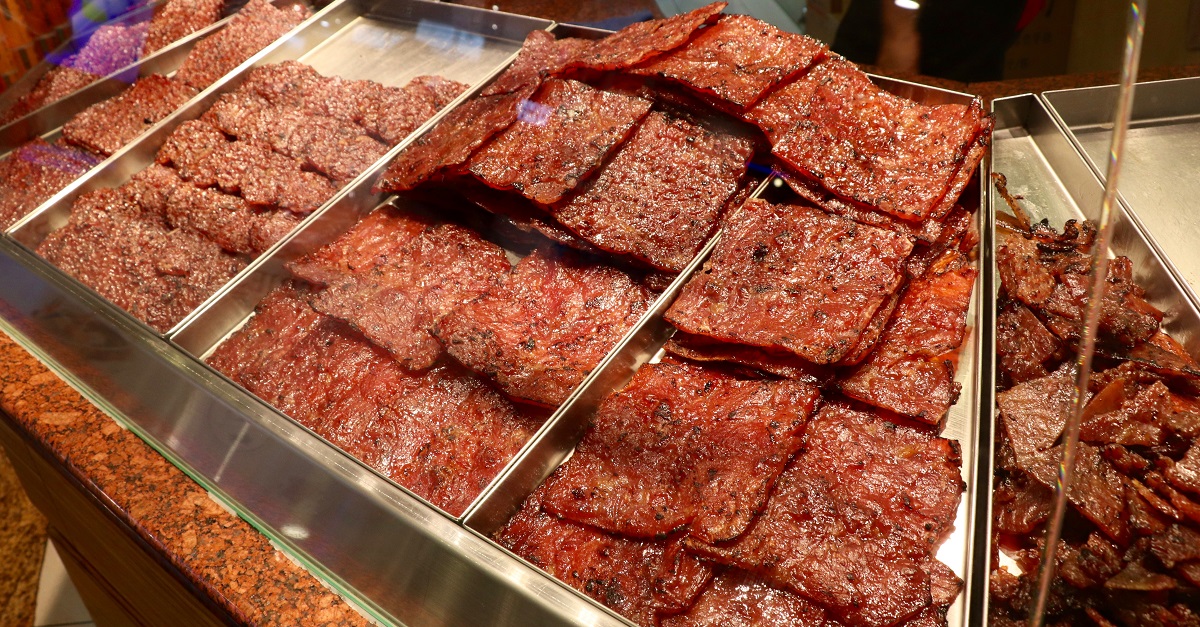
<path fill-rule="evenodd" d="M 46 235 L 66 223 L 79 196 L 102 187 L 116 187 L 151 165 L 158 148 L 179 125 L 199 118 L 217 97 L 236 89 L 252 67 L 300 60 L 326 76 L 370 78 L 389 85 L 404 84 L 422 73 L 440 73 L 479 84 L 506 65 L 528 31 L 545 29 L 550 24 L 534 18 L 420 0 L 335 1 L 56 193 L 13 225 L 8 234 L 35 250 Z M 389 50 L 406 61 L 378 62 L 380 50 Z M 401 142 L 389 155 L 404 145 L 407 142 Z M 382 167 L 386 159 L 380 159 L 370 171 Z M 354 187 L 352 181 L 346 189 Z M 341 195 L 335 195 L 326 204 L 334 204 L 340 198 Z M 269 256 L 270 251 L 262 257 Z M 221 292 L 223 289 L 217 294 Z M 178 327 L 186 324 L 185 320 Z"/>

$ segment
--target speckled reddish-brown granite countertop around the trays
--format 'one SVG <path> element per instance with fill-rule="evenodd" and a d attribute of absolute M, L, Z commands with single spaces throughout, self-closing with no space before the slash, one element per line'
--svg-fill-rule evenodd
<path fill-rule="evenodd" d="M 467 0 L 463 4 L 570 22 L 656 13 L 653 1 L 562 4 Z M 1200 76 L 1200 66 L 1147 70 L 1142 80 Z M 899 77 L 988 98 L 1111 84 L 1116 73 L 962 84 Z M 191 478 L 86 401 L 8 336 L 0 334 L 0 410 L 30 442 L 49 452 L 98 502 L 193 581 L 235 621 L 366 625 L 312 574 L 288 560 L 250 524 L 230 514 Z"/>

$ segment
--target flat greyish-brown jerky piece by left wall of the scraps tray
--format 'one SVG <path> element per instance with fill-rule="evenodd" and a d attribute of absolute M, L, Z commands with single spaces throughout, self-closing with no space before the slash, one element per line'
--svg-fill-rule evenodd
<path fill-rule="evenodd" d="M 1021 464 L 1058 440 L 1074 395 L 1075 368 L 1070 362 L 1052 375 L 1026 381 L 996 395 L 1004 434 Z"/>

